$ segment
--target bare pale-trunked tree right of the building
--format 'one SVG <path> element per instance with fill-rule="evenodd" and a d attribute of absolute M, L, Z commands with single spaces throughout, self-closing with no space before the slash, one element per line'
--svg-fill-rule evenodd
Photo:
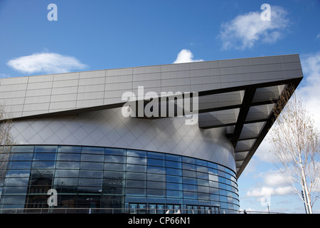
<path fill-rule="evenodd" d="M 291 87 L 284 90 L 273 111 L 276 120 L 270 130 L 270 142 L 274 165 L 311 214 L 320 193 L 319 130 Z"/>

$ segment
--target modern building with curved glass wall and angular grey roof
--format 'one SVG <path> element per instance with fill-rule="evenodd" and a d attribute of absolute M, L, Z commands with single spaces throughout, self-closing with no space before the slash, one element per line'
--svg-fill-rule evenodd
<path fill-rule="evenodd" d="M 302 78 L 297 54 L 1 78 L 1 212 L 238 212 L 238 177 Z"/>

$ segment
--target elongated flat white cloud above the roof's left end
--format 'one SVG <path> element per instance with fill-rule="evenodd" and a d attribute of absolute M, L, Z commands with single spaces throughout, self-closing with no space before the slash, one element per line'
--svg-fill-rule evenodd
<path fill-rule="evenodd" d="M 22 73 L 66 73 L 72 70 L 83 69 L 85 64 L 80 63 L 73 56 L 63 56 L 58 53 L 33 53 L 30 56 L 14 58 L 6 63 L 16 71 Z"/>

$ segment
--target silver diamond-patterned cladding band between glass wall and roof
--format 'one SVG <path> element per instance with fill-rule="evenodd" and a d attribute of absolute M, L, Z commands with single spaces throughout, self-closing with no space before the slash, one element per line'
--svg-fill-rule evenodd
<path fill-rule="evenodd" d="M 124 118 L 121 108 L 36 120 L 17 120 L 18 144 L 92 145 L 168 152 L 235 168 L 233 146 L 225 128 L 200 129 L 186 118 Z"/>

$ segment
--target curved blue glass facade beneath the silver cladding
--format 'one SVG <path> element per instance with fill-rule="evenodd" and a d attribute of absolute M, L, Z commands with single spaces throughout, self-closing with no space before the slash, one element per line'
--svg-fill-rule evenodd
<path fill-rule="evenodd" d="M 48 208 L 48 190 L 54 189 L 58 208 L 110 213 L 239 210 L 235 172 L 192 157 L 110 147 L 27 145 L 14 147 L 8 165 L 0 183 L 0 209 Z"/>

